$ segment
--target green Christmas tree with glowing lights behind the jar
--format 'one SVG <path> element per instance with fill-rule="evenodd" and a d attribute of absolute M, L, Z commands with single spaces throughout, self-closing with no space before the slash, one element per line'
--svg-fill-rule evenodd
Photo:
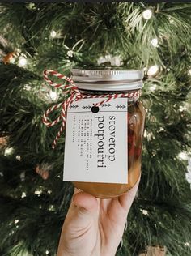
<path fill-rule="evenodd" d="M 63 95 L 42 71 L 97 65 L 145 70 L 142 180 L 117 256 L 191 254 L 190 16 L 189 2 L 0 4 L 0 255 L 56 255 L 73 186 L 64 135 L 52 150 L 59 126 L 42 123 Z"/>

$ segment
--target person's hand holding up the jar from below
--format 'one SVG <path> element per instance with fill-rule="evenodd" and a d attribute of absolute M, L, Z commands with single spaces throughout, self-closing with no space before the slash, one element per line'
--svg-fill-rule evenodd
<path fill-rule="evenodd" d="M 114 256 L 138 183 L 117 198 L 98 199 L 74 190 L 57 256 Z"/>

